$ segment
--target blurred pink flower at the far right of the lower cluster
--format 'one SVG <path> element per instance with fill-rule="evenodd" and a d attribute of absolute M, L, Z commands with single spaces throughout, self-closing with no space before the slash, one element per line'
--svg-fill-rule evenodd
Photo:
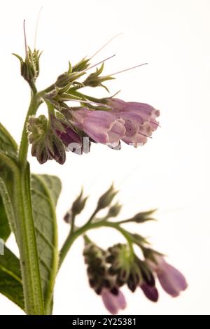
<path fill-rule="evenodd" d="M 156 272 L 162 288 L 172 297 L 177 297 L 181 291 L 188 288 L 186 278 L 178 269 L 169 265 L 160 255 L 155 255 L 155 262 L 147 260 L 148 265 Z"/>

